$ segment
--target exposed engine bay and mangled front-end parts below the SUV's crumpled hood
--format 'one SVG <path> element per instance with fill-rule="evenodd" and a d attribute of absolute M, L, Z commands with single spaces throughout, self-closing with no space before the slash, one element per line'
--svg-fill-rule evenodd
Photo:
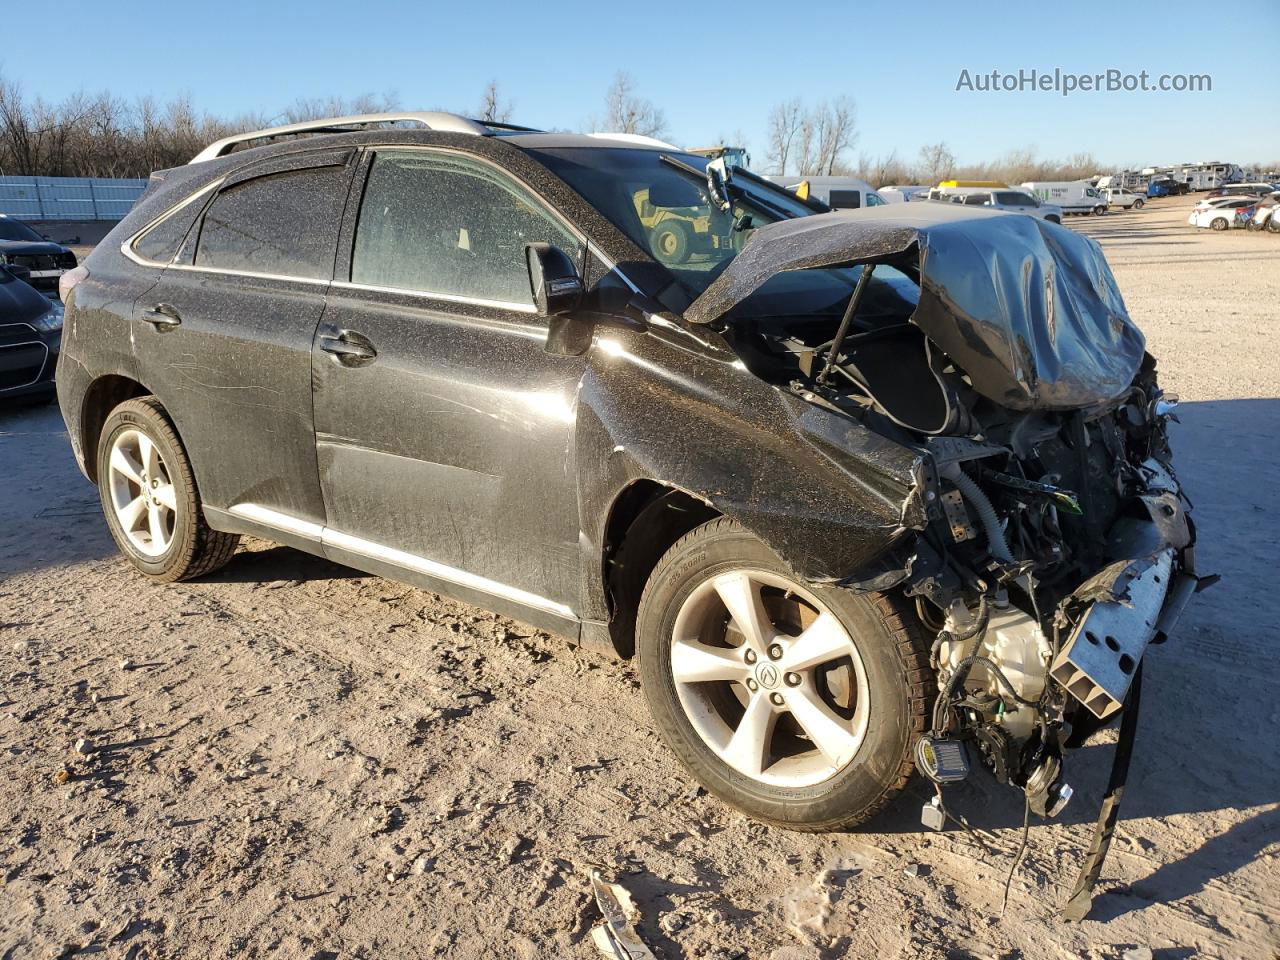
<path fill-rule="evenodd" d="M 1147 644 L 1197 585 L 1169 465 L 1172 402 L 1148 356 L 1119 398 L 1010 410 L 910 323 L 908 278 L 873 270 L 838 326 L 740 321 L 735 346 L 795 394 L 920 451 L 929 520 L 899 580 L 936 636 L 918 767 L 943 783 L 977 758 L 1056 815 L 1071 795 L 1064 749 L 1120 710 Z"/>

